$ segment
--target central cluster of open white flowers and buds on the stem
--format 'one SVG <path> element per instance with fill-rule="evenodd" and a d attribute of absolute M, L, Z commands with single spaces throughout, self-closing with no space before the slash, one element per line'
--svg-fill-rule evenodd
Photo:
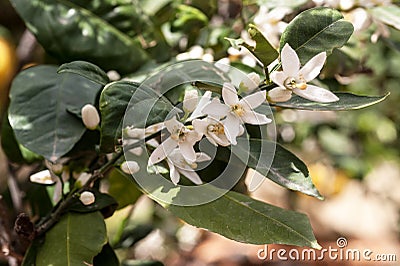
<path fill-rule="evenodd" d="M 250 73 L 241 84 L 242 92 L 252 92 L 260 82 L 260 77 Z M 222 86 L 222 99 L 212 98 L 211 91 L 199 95 L 197 90 L 188 90 L 183 100 L 184 116 L 173 116 L 165 121 L 163 126 L 157 126 L 161 130 L 164 126 L 167 137 L 161 144 L 152 144 L 155 147 L 151 153 L 148 166 L 154 166 L 161 161 L 166 161 L 169 167 L 171 181 L 176 185 L 180 175 L 184 175 L 194 184 L 202 181 L 195 172 L 197 163 L 210 160 L 210 156 L 204 152 L 196 152 L 194 146 L 203 137 L 207 138 L 215 146 L 236 145 L 236 138 L 244 133 L 244 124 L 263 125 L 272 120 L 263 114 L 254 111 L 255 108 L 266 102 L 266 91 L 258 91 L 239 99 L 238 91 L 231 83 Z M 154 127 L 154 126 L 153 126 Z M 147 129 L 127 128 L 126 132 L 131 138 L 143 139 Z M 141 134 L 133 134 L 137 132 Z M 152 130 L 152 132 L 155 132 Z M 129 144 L 135 139 L 129 139 Z M 134 164 L 130 161 L 129 164 Z M 126 173 L 132 173 L 132 168 L 126 164 L 121 169 Z M 130 170 L 129 170 L 130 169 Z M 133 171 L 135 172 L 135 171 Z"/>

